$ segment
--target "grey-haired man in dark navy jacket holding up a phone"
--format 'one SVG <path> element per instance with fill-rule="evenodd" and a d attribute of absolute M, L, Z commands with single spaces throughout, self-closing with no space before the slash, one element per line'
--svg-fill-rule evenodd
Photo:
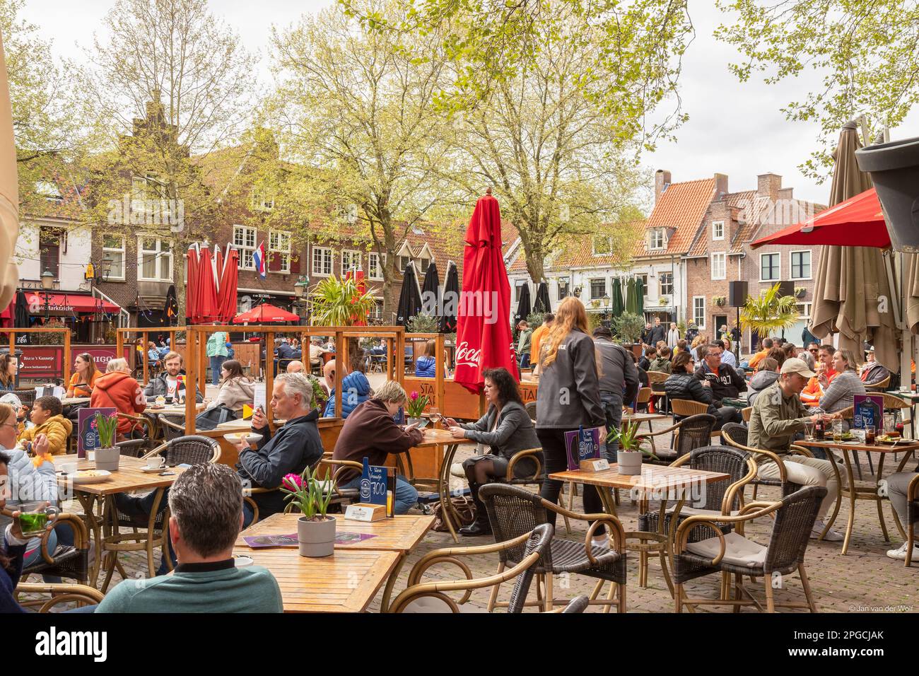
<path fill-rule="evenodd" d="M 255 450 L 244 439 L 239 442 L 239 463 L 236 469 L 255 488 L 277 488 L 288 474 L 301 474 L 323 457 L 323 441 L 319 438 L 316 420 L 319 409 L 313 403 L 312 384 L 302 373 L 281 373 L 275 378 L 271 408 L 275 416 L 287 420 L 283 427 L 271 433 L 268 418 L 261 407 L 252 416 L 252 430 L 261 434 Z M 279 490 L 252 496 L 259 517 L 283 511 L 284 494 Z M 244 505 L 244 525 L 248 526 L 255 513 Z"/>

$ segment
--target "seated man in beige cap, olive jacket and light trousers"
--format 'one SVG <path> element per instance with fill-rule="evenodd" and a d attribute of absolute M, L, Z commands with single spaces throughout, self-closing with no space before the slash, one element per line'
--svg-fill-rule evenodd
<path fill-rule="evenodd" d="M 776 453 L 785 464 L 788 481 L 801 486 L 825 486 L 826 497 L 817 512 L 817 521 L 813 524 L 811 537 L 823 533 L 823 517 L 839 495 L 839 487 L 829 460 L 810 458 L 804 455 L 789 455 L 789 448 L 795 441 L 795 435 L 804 430 L 805 423 L 818 419 L 839 418 L 838 414 L 818 413 L 810 415 L 801 404 L 799 395 L 809 378 L 814 377 L 804 361 L 797 357 L 786 360 L 778 380 L 766 387 L 756 397 L 753 412 L 750 414 L 749 443 L 754 449 L 763 449 Z M 759 463 L 758 475 L 762 479 L 780 478 L 778 466 L 771 460 Z M 841 533 L 828 531 L 824 540 L 836 542 L 843 539 Z"/>

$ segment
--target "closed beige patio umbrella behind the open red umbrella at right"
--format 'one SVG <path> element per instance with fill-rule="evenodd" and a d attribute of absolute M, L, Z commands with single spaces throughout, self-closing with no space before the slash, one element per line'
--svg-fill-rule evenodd
<path fill-rule="evenodd" d="M 855 152 L 862 147 L 857 122 L 847 122 L 839 134 L 829 206 L 871 188 L 871 178 L 860 171 Z M 825 337 L 839 334 L 839 347 L 859 357 L 862 344 L 874 345 L 875 359 L 897 371 L 898 353 L 895 308 L 884 258 L 867 246 L 823 246 L 811 309 L 811 332 Z"/>

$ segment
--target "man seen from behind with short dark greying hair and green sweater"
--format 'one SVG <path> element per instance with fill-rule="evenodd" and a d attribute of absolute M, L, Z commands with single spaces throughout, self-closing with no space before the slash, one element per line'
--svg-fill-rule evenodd
<path fill-rule="evenodd" d="M 126 579 L 96 613 L 281 613 L 278 581 L 259 566 L 236 567 L 243 486 L 225 464 L 198 464 L 169 491 L 169 536 L 179 564 L 172 575 Z"/>

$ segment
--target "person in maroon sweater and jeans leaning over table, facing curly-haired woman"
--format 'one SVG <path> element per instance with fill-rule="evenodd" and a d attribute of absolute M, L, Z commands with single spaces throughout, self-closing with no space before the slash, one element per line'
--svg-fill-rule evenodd
<path fill-rule="evenodd" d="M 387 381 L 373 398 L 351 411 L 335 442 L 334 460 L 351 460 L 369 464 L 385 464 L 390 453 L 405 453 L 417 446 L 425 435 L 415 425 L 404 430 L 392 418 L 403 407 L 405 390 L 396 381 Z M 343 488 L 360 487 L 357 470 L 342 472 L 339 485 Z M 395 513 L 404 514 L 418 502 L 418 491 L 402 476 L 396 479 Z"/>

